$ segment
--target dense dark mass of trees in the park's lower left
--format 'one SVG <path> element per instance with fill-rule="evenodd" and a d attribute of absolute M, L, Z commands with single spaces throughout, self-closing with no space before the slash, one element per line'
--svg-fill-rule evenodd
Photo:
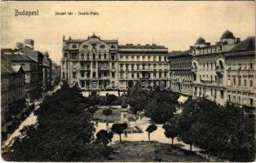
<path fill-rule="evenodd" d="M 83 106 L 83 107 L 82 107 Z M 34 113 L 38 123 L 26 126 L 21 136 L 2 152 L 6 161 L 95 161 L 113 149 L 91 143 L 90 99 L 67 87 L 44 99 Z"/>

